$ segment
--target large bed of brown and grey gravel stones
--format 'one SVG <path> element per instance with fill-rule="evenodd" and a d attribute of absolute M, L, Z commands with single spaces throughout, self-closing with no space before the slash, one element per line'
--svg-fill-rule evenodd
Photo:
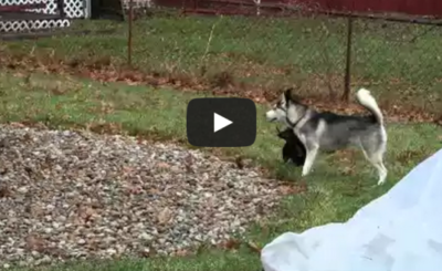
<path fill-rule="evenodd" d="M 219 243 L 278 195 L 253 168 L 172 144 L 0 126 L 3 268 Z"/>

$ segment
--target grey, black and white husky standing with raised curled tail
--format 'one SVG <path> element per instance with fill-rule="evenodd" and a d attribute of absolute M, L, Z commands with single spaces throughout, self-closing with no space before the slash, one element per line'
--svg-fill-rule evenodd
<path fill-rule="evenodd" d="M 319 113 L 303 104 L 292 92 L 292 88 L 286 90 L 265 116 L 269 122 L 280 122 L 291 127 L 304 144 L 307 154 L 302 176 L 308 175 L 319 149 L 333 152 L 356 146 L 378 170 L 378 185 L 386 181 L 387 168 L 382 160 L 387 149 L 387 132 L 382 113 L 368 90 L 359 90 L 356 97 L 371 113 L 369 116 Z"/>

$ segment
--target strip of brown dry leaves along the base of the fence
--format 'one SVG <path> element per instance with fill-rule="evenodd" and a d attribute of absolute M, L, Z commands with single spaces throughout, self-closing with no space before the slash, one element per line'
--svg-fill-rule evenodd
<path fill-rule="evenodd" d="M 45 71 L 49 73 L 65 72 L 67 74 L 90 77 L 99 82 L 125 82 L 130 85 L 148 84 L 154 86 L 170 86 L 186 92 L 210 91 L 214 95 L 228 95 L 249 97 L 255 103 L 266 103 L 275 100 L 281 90 L 273 90 L 260 85 L 236 83 L 232 75 L 221 72 L 213 75 L 212 81 L 204 77 L 196 77 L 193 74 L 180 73 L 146 73 L 140 70 L 119 66 L 116 67 L 110 61 L 102 61 L 102 59 L 92 59 L 87 63 L 82 64 L 78 61 L 65 62 L 54 58 L 30 58 L 27 55 L 0 55 L 0 65 L 14 70 L 15 73 Z M 51 69 L 49 69 L 51 67 Z M 56 67 L 56 69 L 55 69 Z M 215 84 L 215 86 L 213 86 Z M 56 91 L 56 93 L 62 93 Z M 311 98 L 305 98 L 308 105 L 320 111 L 332 111 L 340 114 L 354 114 L 364 112 L 357 103 L 346 103 L 339 100 L 330 103 L 328 96 L 317 95 L 312 90 L 306 94 Z M 328 95 L 328 94 L 327 94 Z M 432 122 L 442 124 L 440 117 L 419 106 L 400 105 L 390 100 L 383 101 L 381 108 L 388 117 L 406 122 Z"/>

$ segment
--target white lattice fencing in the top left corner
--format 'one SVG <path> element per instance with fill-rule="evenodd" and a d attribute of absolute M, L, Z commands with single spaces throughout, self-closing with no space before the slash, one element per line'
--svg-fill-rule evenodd
<path fill-rule="evenodd" d="M 42 19 L 42 20 L 18 20 L 0 21 L 0 32 L 17 32 L 27 30 L 39 30 L 49 28 L 65 28 L 71 25 L 69 19 L 74 18 L 86 18 L 88 17 L 87 0 L 64 0 L 64 13 L 67 19 Z M 11 4 L 32 4 L 32 3 L 46 3 L 45 9 L 30 10 L 33 12 L 40 12 L 44 14 L 57 14 L 59 9 L 55 0 L 0 0 L 0 6 L 11 6 Z M 1 18 L 0 18 L 1 19 Z"/>

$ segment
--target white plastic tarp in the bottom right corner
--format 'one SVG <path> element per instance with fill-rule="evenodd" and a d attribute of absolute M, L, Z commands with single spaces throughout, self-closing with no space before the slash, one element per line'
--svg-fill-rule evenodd
<path fill-rule="evenodd" d="M 442 149 L 345 223 L 286 232 L 264 271 L 442 271 Z"/>

